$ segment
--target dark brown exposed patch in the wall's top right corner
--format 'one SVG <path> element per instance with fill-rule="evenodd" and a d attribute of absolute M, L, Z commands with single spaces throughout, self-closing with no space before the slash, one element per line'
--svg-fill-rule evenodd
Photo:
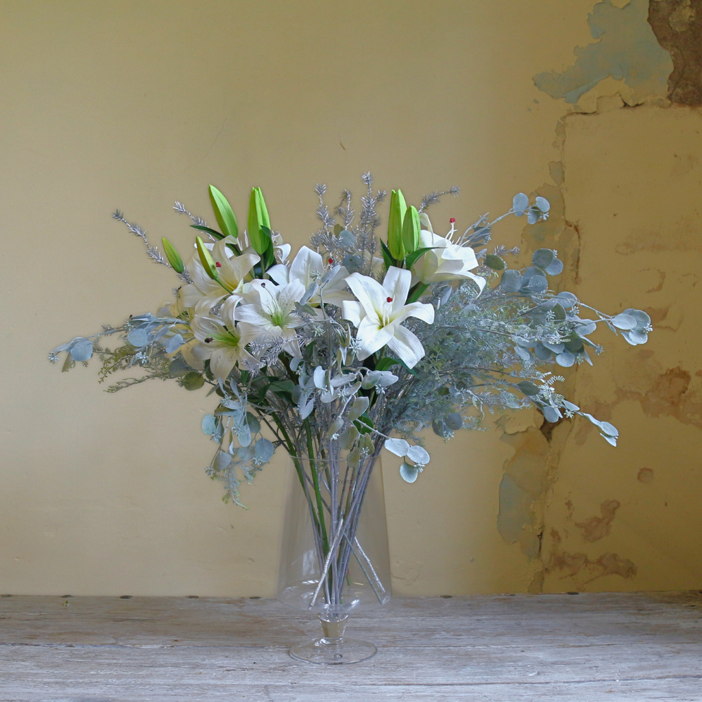
<path fill-rule="evenodd" d="M 668 99 L 702 105 L 702 0 L 650 0 L 649 24 L 673 58 Z"/>

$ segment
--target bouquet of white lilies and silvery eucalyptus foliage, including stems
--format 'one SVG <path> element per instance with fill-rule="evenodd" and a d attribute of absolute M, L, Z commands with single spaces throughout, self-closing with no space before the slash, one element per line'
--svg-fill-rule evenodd
<path fill-rule="evenodd" d="M 428 216 L 456 188 L 433 192 L 418 207 L 393 190 L 383 240 L 376 231 L 386 193 L 373 190 L 369 173 L 362 180 L 357 209 L 345 190 L 330 211 L 326 188 L 317 185 L 321 227 L 293 257 L 259 188 L 251 190 L 243 232 L 216 187 L 209 187 L 216 228 L 176 202 L 199 234 L 187 265 L 168 240 L 161 253 L 115 212 L 155 262 L 173 269 L 175 300 L 50 355 L 56 361 L 65 352 L 64 370 L 96 355 L 100 382 L 140 369 L 109 392 L 152 378 L 186 390 L 208 386 L 216 397 L 202 428 L 216 450 L 206 472 L 223 482 L 225 501 L 240 504 L 241 483 L 277 449 L 289 453 L 314 535 L 317 576 L 303 599 L 331 614 L 350 602 L 344 588 L 352 559 L 378 602 L 389 592 L 357 534 L 383 448 L 412 483 L 430 461 L 424 428 L 450 439 L 480 428 L 485 411 L 530 406 L 550 422 L 580 415 L 616 445 L 613 425 L 557 392 L 558 371 L 592 364 L 590 355 L 602 349 L 588 337 L 598 324 L 632 345 L 651 331 L 641 310 L 611 316 L 553 292 L 549 278 L 563 269 L 556 251 L 538 249 L 524 268 L 508 265 L 518 249 L 489 251 L 502 218 L 547 218 L 543 197 L 532 203 L 519 193 L 503 216 L 458 229 L 453 218 L 439 227 Z M 111 337 L 117 343 L 108 347 Z"/>

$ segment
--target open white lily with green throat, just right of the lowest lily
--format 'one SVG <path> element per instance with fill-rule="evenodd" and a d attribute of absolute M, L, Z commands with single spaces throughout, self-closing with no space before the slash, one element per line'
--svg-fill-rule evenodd
<path fill-rule="evenodd" d="M 270 280 L 251 281 L 244 286 L 246 304 L 235 311 L 239 327 L 247 338 L 281 339 L 284 351 L 301 357 L 295 330 L 304 322 L 295 312 L 295 303 L 304 294 L 305 286 L 299 280 L 284 285 L 275 285 Z"/>

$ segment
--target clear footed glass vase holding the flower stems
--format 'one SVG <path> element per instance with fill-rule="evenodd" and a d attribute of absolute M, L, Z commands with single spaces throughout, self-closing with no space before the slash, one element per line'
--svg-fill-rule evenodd
<path fill-rule="evenodd" d="M 333 448 L 324 458 L 291 458 L 278 569 L 278 599 L 314 612 L 322 635 L 290 655 L 310 663 L 356 663 L 376 647 L 350 639 L 353 612 L 390 600 L 390 557 L 378 456 L 360 461 Z"/>

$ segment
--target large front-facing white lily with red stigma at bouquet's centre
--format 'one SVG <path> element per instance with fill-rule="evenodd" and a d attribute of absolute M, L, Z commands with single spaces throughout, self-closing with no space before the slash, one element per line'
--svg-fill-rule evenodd
<path fill-rule="evenodd" d="M 424 347 L 416 335 L 400 323 L 408 317 L 416 317 L 432 324 L 434 307 L 425 303 L 405 304 L 411 283 L 409 270 L 391 266 L 382 285 L 359 273 L 352 273 L 346 282 L 359 300 L 342 303 L 344 319 L 357 328 L 359 361 L 387 345 L 409 368 L 415 366 L 424 355 Z"/>

